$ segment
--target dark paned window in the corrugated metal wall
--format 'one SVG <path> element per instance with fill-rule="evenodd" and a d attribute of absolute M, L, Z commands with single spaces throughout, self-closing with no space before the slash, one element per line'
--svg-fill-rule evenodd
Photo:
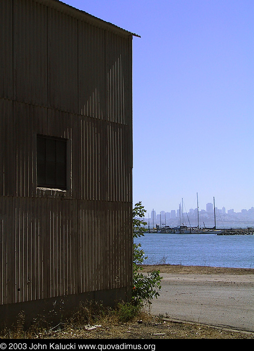
<path fill-rule="evenodd" d="M 37 136 L 37 186 L 66 190 L 66 139 Z"/>

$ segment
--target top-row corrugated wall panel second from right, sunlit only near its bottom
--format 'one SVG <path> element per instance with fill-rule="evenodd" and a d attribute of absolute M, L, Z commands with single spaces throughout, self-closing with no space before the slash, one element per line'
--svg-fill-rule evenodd
<path fill-rule="evenodd" d="M 105 118 L 105 31 L 78 21 L 79 114 Z"/>

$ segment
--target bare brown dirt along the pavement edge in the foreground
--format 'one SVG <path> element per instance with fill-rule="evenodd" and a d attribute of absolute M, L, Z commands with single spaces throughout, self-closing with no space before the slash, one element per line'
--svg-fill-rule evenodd
<path fill-rule="evenodd" d="M 88 325 L 51 332 L 47 339 L 254 339 L 253 333 L 182 323 L 152 316 L 128 323 Z"/>

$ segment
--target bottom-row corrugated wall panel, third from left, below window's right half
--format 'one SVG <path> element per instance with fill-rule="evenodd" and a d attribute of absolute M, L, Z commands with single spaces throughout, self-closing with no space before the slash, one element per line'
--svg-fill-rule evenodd
<path fill-rule="evenodd" d="M 76 201 L 47 199 L 49 223 L 48 297 L 77 293 Z"/>

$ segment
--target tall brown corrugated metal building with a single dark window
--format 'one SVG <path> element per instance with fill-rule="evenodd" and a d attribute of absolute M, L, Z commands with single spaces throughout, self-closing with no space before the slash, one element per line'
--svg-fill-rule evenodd
<path fill-rule="evenodd" d="M 129 298 L 134 35 L 58 0 L 0 1 L 5 321 Z"/>

